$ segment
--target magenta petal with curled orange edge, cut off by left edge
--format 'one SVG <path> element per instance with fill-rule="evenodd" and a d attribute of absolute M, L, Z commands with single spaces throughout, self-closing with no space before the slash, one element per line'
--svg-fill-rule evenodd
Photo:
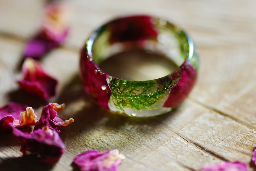
<path fill-rule="evenodd" d="M 27 107 L 14 102 L 0 107 L 0 132 L 11 129 L 10 123 L 14 127 L 25 127 L 38 122 L 35 111 L 32 107 Z"/>

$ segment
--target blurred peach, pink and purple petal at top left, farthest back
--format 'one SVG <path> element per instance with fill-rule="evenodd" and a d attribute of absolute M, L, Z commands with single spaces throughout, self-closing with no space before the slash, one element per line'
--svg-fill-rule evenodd
<path fill-rule="evenodd" d="M 61 46 L 69 32 L 69 8 L 61 3 L 48 3 L 40 31 L 25 46 L 24 58 L 41 58 Z"/>

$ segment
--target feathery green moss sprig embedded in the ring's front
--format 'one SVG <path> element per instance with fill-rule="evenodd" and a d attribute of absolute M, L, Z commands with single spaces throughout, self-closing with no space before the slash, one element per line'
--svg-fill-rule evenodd
<path fill-rule="evenodd" d="M 161 101 L 159 99 L 163 94 L 177 82 L 171 79 L 159 81 L 128 81 L 113 78 L 110 81 L 110 101 L 121 111 L 124 111 L 124 108 L 152 110 L 153 106 Z"/>

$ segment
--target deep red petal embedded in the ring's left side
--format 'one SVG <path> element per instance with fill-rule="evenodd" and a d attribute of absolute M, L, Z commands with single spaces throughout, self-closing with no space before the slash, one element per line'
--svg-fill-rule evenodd
<path fill-rule="evenodd" d="M 90 59 L 87 52 L 83 49 L 81 53 L 80 69 L 84 89 L 98 105 L 109 109 L 108 100 L 111 96 L 111 90 L 106 80 L 108 75 L 103 73 L 95 62 Z"/>

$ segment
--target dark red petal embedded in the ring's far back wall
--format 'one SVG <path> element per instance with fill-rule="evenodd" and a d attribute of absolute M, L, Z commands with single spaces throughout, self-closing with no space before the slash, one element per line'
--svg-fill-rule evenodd
<path fill-rule="evenodd" d="M 152 20 L 151 16 L 138 15 L 112 21 L 109 24 L 110 43 L 157 38 L 158 33 L 153 27 Z"/>

